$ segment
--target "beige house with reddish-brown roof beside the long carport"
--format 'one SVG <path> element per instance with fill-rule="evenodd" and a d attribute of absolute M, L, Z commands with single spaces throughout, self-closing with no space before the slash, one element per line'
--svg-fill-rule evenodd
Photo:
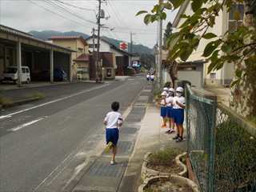
<path fill-rule="evenodd" d="M 76 50 L 72 54 L 72 69 L 74 79 L 89 79 L 90 53 L 89 45 L 82 36 L 52 36 L 53 44 Z"/>

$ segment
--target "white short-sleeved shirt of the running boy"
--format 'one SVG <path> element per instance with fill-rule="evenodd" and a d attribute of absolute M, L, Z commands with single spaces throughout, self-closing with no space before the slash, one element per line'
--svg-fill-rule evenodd
<path fill-rule="evenodd" d="M 106 129 L 118 128 L 118 124 L 122 123 L 122 115 L 117 111 L 111 111 L 106 114 L 104 121 L 106 122 Z"/>

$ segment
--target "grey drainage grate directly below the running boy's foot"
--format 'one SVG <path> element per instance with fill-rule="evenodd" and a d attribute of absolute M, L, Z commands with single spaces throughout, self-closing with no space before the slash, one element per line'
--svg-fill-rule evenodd
<path fill-rule="evenodd" d="M 90 167 L 87 175 L 96 177 L 113 177 L 119 178 L 122 176 L 123 170 L 126 168 L 127 162 L 118 162 L 114 166 L 110 166 L 110 162 L 97 160 Z"/>

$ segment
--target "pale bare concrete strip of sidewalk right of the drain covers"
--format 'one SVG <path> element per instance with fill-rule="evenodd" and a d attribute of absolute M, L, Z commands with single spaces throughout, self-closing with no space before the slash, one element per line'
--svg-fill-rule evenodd
<path fill-rule="evenodd" d="M 140 178 L 142 162 L 147 152 L 154 152 L 163 149 L 166 146 L 186 150 L 186 141 L 179 143 L 175 142 L 172 139 L 175 134 L 166 134 L 166 129 L 160 128 L 160 125 L 159 109 L 154 103 L 148 104 L 138 134 L 138 141 L 136 142 L 134 153 L 130 157 L 130 162 L 118 191 L 135 192 L 138 190 L 138 186 L 142 182 Z M 184 132 L 186 133 L 186 131 Z"/>

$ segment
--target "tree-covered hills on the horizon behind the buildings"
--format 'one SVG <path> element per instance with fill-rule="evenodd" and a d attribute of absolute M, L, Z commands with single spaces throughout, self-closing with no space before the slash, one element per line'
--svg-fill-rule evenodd
<path fill-rule="evenodd" d="M 82 36 L 83 38 L 90 37 L 88 34 L 83 34 L 76 31 L 60 32 L 55 30 L 43 30 L 43 31 L 31 30 L 29 34 L 34 35 L 35 38 L 40 38 L 45 41 L 49 40 L 51 36 Z M 114 46 L 117 46 L 117 47 L 119 47 L 120 42 L 124 42 L 114 38 L 108 38 L 106 36 L 104 36 L 103 38 L 105 38 L 108 42 L 112 43 Z M 130 43 L 128 43 L 128 46 L 130 47 Z M 141 44 L 133 45 L 133 54 L 138 54 L 141 57 L 142 66 L 145 66 L 148 69 L 151 66 L 154 66 L 154 50 L 153 49 L 150 49 L 149 47 L 143 46 Z"/>

